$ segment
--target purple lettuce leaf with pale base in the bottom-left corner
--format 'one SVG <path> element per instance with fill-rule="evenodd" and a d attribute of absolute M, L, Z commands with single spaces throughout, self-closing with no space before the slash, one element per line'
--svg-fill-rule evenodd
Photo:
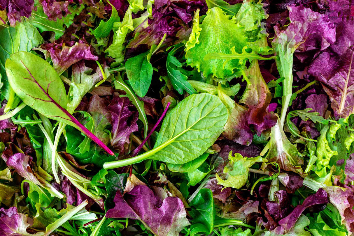
<path fill-rule="evenodd" d="M 27 217 L 17 212 L 17 207 L 0 208 L 0 235 L 32 235 L 27 232 Z"/>

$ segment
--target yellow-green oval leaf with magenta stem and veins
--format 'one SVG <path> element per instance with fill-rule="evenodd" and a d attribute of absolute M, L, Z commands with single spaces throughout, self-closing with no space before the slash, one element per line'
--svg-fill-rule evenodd
<path fill-rule="evenodd" d="M 67 97 L 64 84 L 47 61 L 32 53 L 20 51 L 6 60 L 6 73 L 11 88 L 25 104 L 50 119 L 75 127 L 106 152 L 114 155 L 101 140 L 66 110 Z"/>

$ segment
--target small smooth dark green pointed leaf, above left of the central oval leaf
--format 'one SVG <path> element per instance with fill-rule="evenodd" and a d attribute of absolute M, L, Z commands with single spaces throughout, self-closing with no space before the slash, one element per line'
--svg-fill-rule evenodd
<path fill-rule="evenodd" d="M 148 92 L 153 76 L 150 63 L 151 52 L 145 52 L 129 58 L 125 63 L 125 71 L 134 92 L 143 97 Z"/>

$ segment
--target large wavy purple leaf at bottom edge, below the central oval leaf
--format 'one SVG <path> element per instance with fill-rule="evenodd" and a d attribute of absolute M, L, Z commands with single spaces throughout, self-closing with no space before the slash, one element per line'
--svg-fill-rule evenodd
<path fill-rule="evenodd" d="M 155 235 L 178 235 L 190 224 L 181 199 L 166 197 L 161 201 L 146 185 L 135 186 L 124 197 L 117 191 L 114 203 L 106 217 L 141 220 Z"/>

